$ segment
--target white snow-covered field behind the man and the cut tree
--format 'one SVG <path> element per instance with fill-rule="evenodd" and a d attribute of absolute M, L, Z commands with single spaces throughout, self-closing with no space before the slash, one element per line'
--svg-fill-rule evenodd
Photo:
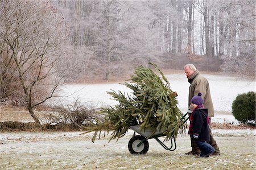
<path fill-rule="evenodd" d="M 255 92 L 255 81 L 250 78 L 226 76 L 221 74 L 203 74 L 209 81 L 210 92 L 212 95 L 215 116 L 212 122 L 226 122 L 237 124 L 238 122 L 232 115 L 232 102 L 238 94 Z M 189 83 L 184 73 L 174 73 L 165 75 L 171 84 L 171 89 L 177 92 L 177 100 L 180 110 L 185 113 L 188 108 L 188 88 Z M 113 100 L 108 93 L 111 90 L 115 92 L 131 92 L 125 85 L 112 84 L 69 84 L 63 87 L 64 101 L 75 101 L 79 99 L 82 103 L 91 106 L 112 106 L 118 102 Z"/>

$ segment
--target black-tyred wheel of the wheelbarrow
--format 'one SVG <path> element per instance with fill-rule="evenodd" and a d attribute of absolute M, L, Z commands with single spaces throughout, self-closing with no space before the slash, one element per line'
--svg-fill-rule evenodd
<path fill-rule="evenodd" d="M 143 143 L 141 143 L 143 139 L 144 141 Z M 141 143 L 141 145 L 138 146 L 139 143 Z M 131 154 L 146 154 L 148 151 L 148 147 L 149 144 L 147 139 L 145 139 L 141 135 L 133 136 L 133 138 L 131 138 L 128 143 L 128 149 Z"/>

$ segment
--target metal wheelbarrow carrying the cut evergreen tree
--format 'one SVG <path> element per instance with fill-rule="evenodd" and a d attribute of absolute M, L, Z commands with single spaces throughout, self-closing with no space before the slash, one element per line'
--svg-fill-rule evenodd
<path fill-rule="evenodd" d="M 184 122 L 187 122 L 188 118 L 185 118 L 188 115 L 188 113 L 184 114 L 183 117 L 181 118 Z M 130 151 L 131 154 L 135 154 L 135 155 L 141 155 L 141 154 L 146 154 L 149 148 L 149 144 L 148 144 L 148 139 L 155 139 L 164 149 L 168 150 L 168 151 L 174 151 L 176 149 L 176 140 L 175 140 L 175 136 L 171 135 L 170 138 L 170 143 L 171 146 L 166 146 L 166 144 L 164 144 L 165 140 L 160 140 L 158 139 L 161 136 L 166 136 L 163 134 L 163 131 L 156 131 L 153 135 L 152 134 L 152 130 L 149 128 L 146 128 L 145 130 L 141 129 L 140 125 L 134 125 L 134 126 L 130 126 L 129 127 L 131 130 L 134 131 L 134 136 L 129 140 L 128 143 L 128 149 Z M 135 132 L 137 132 L 140 135 L 135 135 Z"/>

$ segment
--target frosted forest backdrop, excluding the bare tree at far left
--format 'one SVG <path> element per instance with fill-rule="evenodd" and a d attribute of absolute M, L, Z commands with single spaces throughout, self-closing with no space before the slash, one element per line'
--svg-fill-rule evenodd
<path fill-rule="evenodd" d="M 255 1 L 53 1 L 63 14 L 75 79 L 163 69 L 255 73 Z M 75 62 L 74 62 L 75 61 Z M 66 64 L 66 63 L 65 63 Z"/>

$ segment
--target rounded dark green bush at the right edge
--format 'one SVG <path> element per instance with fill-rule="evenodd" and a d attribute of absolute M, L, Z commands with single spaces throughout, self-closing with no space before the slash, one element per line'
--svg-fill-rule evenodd
<path fill-rule="evenodd" d="M 238 121 L 255 125 L 255 92 L 238 94 L 232 103 L 232 110 Z"/>

